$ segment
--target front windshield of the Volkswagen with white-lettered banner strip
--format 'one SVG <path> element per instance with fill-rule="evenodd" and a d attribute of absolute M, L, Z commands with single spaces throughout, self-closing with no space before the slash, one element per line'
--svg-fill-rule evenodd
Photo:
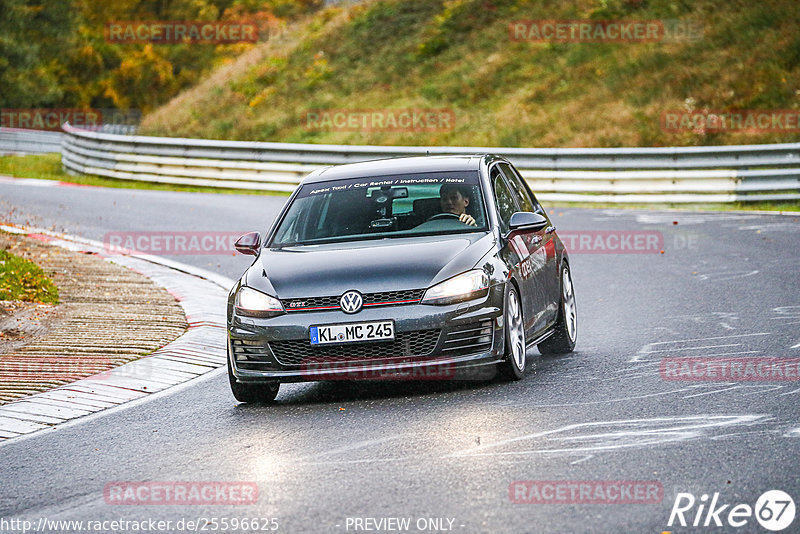
<path fill-rule="evenodd" d="M 270 246 L 487 229 L 477 171 L 367 176 L 303 185 Z"/>

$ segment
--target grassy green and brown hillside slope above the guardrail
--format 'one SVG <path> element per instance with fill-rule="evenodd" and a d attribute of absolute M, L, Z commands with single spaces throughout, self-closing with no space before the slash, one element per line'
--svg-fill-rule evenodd
<path fill-rule="evenodd" d="M 673 33 L 657 42 L 511 38 L 511 23 L 542 19 L 663 21 Z M 681 28 L 694 31 L 683 38 Z M 384 109 L 452 110 L 455 124 L 309 127 L 308 113 L 317 110 Z M 544 147 L 800 139 L 796 120 L 778 131 L 662 127 L 665 112 L 704 109 L 800 110 L 796 0 L 376 0 L 328 8 L 147 116 L 142 132 Z"/>

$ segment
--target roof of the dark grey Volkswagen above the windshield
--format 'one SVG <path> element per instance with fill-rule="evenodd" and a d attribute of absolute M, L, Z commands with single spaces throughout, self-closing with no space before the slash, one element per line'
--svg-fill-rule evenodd
<path fill-rule="evenodd" d="M 480 169 L 481 161 L 484 158 L 491 158 L 491 156 L 415 156 L 348 163 L 314 171 L 306 176 L 301 183 L 328 182 L 367 176 L 389 176 L 392 174 L 477 171 Z"/>

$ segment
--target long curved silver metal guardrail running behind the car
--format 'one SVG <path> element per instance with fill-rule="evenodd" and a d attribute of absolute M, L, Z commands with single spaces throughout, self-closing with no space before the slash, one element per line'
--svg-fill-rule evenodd
<path fill-rule="evenodd" d="M 68 172 L 184 185 L 292 191 L 327 165 L 499 153 L 551 201 L 705 203 L 800 199 L 800 143 L 665 148 L 304 145 L 123 136 L 64 125 Z"/>

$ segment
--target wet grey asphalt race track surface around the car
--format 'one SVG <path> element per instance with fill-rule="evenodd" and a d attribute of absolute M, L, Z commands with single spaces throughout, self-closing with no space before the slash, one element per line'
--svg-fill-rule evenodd
<path fill-rule="evenodd" d="M 99 240 L 121 231 L 244 232 L 266 229 L 284 200 L 0 184 L 0 220 Z M 723 522 L 767 490 L 800 498 L 800 382 L 665 380 L 659 366 L 676 357 L 800 358 L 800 218 L 551 216 L 565 234 L 657 232 L 664 250 L 571 252 L 573 354 L 532 349 L 531 369 L 515 383 L 284 385 L 273 406 L 237 404 L 217 372 L 0 446 L 0 518 L 154 519 L 172 521 L 171 531 L 181 519 L 247 517 L 276 518 L 278 532 L 768 532 L 754 517 L 738 529 L 703 527 L 705 514 L 698 527 L 668 520 L 681 492 L 698 504 L 718 492 L 718 507 L 730 505 Z M 172 259 L 230 278 L 249 264 L 227 252 Z M 620 480 L 663 492 L 631 504 L 515 503 L 509 494 L 515 481 Z M 117 481 L 253 482 L 258 499 L 109 504 L 103 490 Z M 689 524 L 697 509 L 685 513 Z M 410 520 L 408 529 L 388 518 Z M 274 526 L 262 521 L 258 530 Z"/>

